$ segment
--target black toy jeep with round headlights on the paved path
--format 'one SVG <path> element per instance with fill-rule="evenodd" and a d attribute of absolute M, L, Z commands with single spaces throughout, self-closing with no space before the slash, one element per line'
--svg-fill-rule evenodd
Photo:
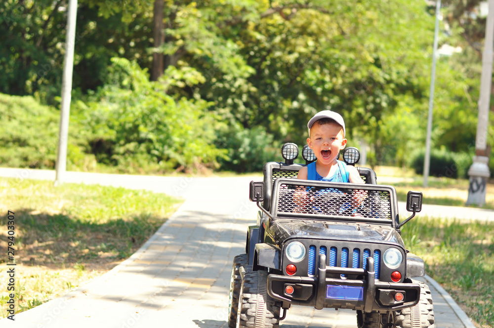
<path fill-rule="evenodd" d="M 434 327 L 430 290 L 412 280 L 424 262 L 400 236 L 422 194 L 409 192 L 413 214 L 400 222 L 395 189 L 377 185 L 370 168 L 358 168 L 364 185 L 298 180 L 298 147 L 285 144 L 282 154 L 285 163 L 266 163 L 264 182 L 250 183 L 260 211 L 233 261 L 228 326 L 277 328 L 302 305 L 356 310 L 359 328 Z M 302 156 L 315 160 L 307 146 Z M 354 147 L 343 153 L 347 164 L 359 157 Z"/>

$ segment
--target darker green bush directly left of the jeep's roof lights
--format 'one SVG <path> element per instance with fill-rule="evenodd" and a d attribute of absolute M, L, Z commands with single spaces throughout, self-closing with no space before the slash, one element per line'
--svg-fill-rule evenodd
<path fill-rule="evenodd" d="M 228 158 L 219 161 L 224 170 L 261 171 L 266 162 L 279 159 L 280 145 L 263 127 L 246 129 L 232 124 L 218 133 L 218 147 L 228 150 Z"/>

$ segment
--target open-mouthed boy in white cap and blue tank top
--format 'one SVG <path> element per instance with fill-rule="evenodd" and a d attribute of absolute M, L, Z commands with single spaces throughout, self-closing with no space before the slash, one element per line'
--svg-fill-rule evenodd
<path fill-rule="evenodd" d="M 341 115 L 332 111 L 321 111 L 310 119 L 307 127 L 307 144 L 314 151 L 317 161 L 302 167 L 298 171 L 298 179 L 364 183 L 355 166 L 336 160 L 347 142 L 345 122 Z"/>

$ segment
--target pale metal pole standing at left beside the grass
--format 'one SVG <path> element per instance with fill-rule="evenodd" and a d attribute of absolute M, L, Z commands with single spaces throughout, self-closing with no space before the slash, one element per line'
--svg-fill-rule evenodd
<path fill-rule="evenodd" d="M 69 135 L 70 100 L 72 71 L 74 68 L 74 44 L 76 41 L 77 0 L 69 0 L 67 10 L 67 31 L 65 57 L 63 61 L 62 102 L 60 106 L 60 130 L 58 135 L 57 161 L 55 164 L 55 185 L 63 183 L 67 164 L 67 139 Z"/>

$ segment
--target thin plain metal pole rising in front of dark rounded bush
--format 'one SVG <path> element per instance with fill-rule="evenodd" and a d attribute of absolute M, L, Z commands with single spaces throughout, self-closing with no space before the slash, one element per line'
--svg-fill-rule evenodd
<path fill-rule="evenodd" d="M 427 116 L 427 137 L 425 139 L 424 187 L 427 187 L 427 179 L 429 178 L 429 167 L 430 167 L 430 158 L 431 158 L 432 110 L 434 108 L 434 84 L 436 82 L 436 52 L 437 52 L 437 39 L 439 34 L 440 15 L 441 15 L 441 0 L 437 0 L 436 26 L 434 28 L 434 47 L 432 50 L 431 88 L 429 92 L 429 114 Z"/>

